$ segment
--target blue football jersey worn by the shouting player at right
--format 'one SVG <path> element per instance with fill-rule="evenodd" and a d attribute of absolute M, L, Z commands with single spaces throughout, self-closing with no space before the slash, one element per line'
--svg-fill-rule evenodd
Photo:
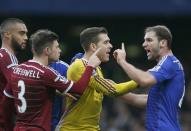
<path fill-rule="evenodd" d="M 178 113 L 185 93 L 184 71 L 175 56 L 164 56 L 149 70 L 157 83 L 148 94 L 148 131 L 180 131 Z"/>

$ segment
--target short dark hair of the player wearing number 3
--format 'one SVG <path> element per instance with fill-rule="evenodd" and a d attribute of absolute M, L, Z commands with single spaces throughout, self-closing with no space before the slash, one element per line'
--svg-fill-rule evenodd
<path fill-rule="evenodd" d="M 36 55 L 40 55 L 42 54 L 44 48 L 50 46 L 54 40 L 58 39 L 59 36 L 56 33 L 47 29 L 40 29 L 31 35 L 29 40 L 33 51 L 36 53 Z"/>

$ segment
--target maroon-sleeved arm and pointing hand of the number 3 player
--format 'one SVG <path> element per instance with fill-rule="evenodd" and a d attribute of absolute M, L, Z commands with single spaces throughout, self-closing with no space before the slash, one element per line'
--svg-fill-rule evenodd
<path fill-rule="evenodd" d="M 99 66 L 99 64 L 101 63 L 101 61 L 97 57 L 97 52 L 99 52 L 99 50 L 100 49 L 98 49 L 90 57 L 88 65 L 78 81 L 74 82 L 71 80 L 67 80 L 65 77 L 62 77 L 58 73 L 56 74 L 53 71 L 47 70 L 46 74 L 44 75 L 44 84 L 51 88 L 54 87 L 64 94 L 67 92 L 82 94 L 89 83 L 93 69 Z"/>

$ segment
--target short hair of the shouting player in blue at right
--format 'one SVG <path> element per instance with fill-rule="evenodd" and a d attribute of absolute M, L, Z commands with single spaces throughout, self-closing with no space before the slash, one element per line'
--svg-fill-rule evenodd
<path fill-rule="evenodd" d="M 169 49 L 171 49 L 171 44 L 172 44 L 172 34 L 170 32 L 170 30 L 164 26 L 164 25 L 156 25 L 156 26 L 152 26 L 152 27 L 147 27 L 145 29 L 145 33 L 147 32 L 155 32 L 156 36 L 158 37 L 158 40 L 162 40 L 165 39 L 167 40 L 167 46 Z"/>

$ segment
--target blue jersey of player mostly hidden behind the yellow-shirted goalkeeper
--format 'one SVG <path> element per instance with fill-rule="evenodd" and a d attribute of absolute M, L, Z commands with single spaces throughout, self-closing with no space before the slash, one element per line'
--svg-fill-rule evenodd
<path fill-rule="evenodd" d="M 68 69 L 68 64 L 59 60 L 57 62 L 54 62 L 50 65 L 54 70 L 56 70 L 60 75 L 66 77 L 67 74 L 67 69 Z M 62 107 L 63 107 L 63 97 L 56 95 L 54 97 L 54 102 L 53 102 L 53 108 L 52 108 L 52 122 L 51 122 L 51 131 L 54 131 L 60 117 L 62 115 Z"/>

